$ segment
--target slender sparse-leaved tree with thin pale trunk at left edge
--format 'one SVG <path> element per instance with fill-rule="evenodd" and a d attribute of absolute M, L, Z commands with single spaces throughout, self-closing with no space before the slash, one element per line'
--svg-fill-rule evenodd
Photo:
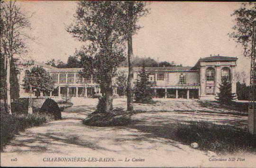
<path fill-rule="evenodd" d="M 14 54 L 27 52 L 25 41 L 27 38 L 32 38 L 25 34 L 24 30 L 31 29 L 31 27 L 29 17 L 22 13 L 21 8 L 16 5 L 16 1 L 1 1 L 0 16 L 0 46 L 6 60 L 6 105 L 7 112 L 11 114 L 10 62 Z"/>

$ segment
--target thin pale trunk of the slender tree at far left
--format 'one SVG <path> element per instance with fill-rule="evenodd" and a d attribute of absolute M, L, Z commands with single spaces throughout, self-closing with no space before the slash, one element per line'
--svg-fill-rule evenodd
<path fill-rule="evenodd" d="M 7 113 L 11 113 L 11 99 L 10 99 L 10 58 L 7 56 L 7 69 L 6 69 L 6 106 Z"/>

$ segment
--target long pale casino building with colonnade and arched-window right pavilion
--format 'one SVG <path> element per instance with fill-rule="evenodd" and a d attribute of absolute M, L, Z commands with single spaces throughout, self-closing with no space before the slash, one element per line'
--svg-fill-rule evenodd
<path fill-rule="evenodd" d="M 33 66 L 42 66 L 51 74 L 55 89 L 40 96 L 61 97 L 68 94 L 73 97 L 91 97 L 101 94 L 99 85 L 92 79 L 82 78 L 79 71 L 82 68 L 55 68 L 43 63 L 17 63 L 18 79 L 20 81 L 20 96 L 29 96 L 29 91 L 23 89 L 23 79 Z M 237 58 L 210 56 L 198 60 L 194 67 L 146 67 L 149 81 L 154 82 L 152 88 L 159 98 L 186 98 L 214 100 L 219 92 L 219 84 L 224 78 L 232 83 L 232 93 L 236 93 L 235 69 Z M 133 79 L 136 83 L 141 68 L 135 67 Z M 128 74 L 127 67 L 119 67 L 118 72 Z M 115 81 L 115 80 L 114 80 Z M 115 84 L 114 93 L 116 93 Z"/>

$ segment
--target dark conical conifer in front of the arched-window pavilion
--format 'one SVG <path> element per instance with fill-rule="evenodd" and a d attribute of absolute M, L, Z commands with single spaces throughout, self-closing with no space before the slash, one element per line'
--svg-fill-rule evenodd
<path fill-rule="evenodd" d="M 232 85 L 227 80 L 227 78 L 223 78 L 222 84 L 219 84 L 219 93 L 217 93 L 219 98 L 218 101 L 222 104 L 231 104 L 233 100 L 235 100 L 235 94 L 232 93 Z"/>

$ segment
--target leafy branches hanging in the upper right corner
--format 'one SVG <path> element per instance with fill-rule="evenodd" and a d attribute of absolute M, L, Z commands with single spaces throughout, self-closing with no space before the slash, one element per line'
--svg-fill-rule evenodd
<path fill-rule="evenodd" d="M 231 15 L 235 17 L 232 27 L 233 32 L 229 33 L 229 37 L 233 38 L 239 45 L 244 47 L 244 56 L 251 56 L 251 43 L 253 35 L 253 20 L 256 18 L 256 3 L 243 2 L 241 8 L 238 8 Z"/>

